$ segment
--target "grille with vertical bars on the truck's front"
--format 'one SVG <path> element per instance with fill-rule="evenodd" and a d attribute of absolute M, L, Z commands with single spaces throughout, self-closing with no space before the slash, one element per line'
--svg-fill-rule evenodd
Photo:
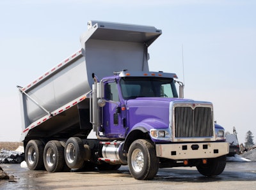
<path fill-rule="evenodd" d="M 174 109 L 176 138 L 213 136 L 212 111 L 210 107 L 177 106 Z"/>

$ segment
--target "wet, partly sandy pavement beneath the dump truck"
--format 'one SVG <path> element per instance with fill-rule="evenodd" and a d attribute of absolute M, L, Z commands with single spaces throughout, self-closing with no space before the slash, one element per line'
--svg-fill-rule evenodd
<path fill-rule="evenodd" d="M 154 180 L 133 179 L 127 166 L 113 172 L 62 173 L 31 171 L 20 164 L 1 167 L 15 180 L 0 180 L 0 189 L 256 189 L 256 162 L 227 163 L 224 172 L 212 178 L 200 175 L 195 167 L 162 168 Z"/>

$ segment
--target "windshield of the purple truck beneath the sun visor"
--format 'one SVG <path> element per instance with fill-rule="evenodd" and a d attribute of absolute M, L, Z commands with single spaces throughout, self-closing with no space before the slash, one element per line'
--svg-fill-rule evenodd
<path fill-rule="evenodd" d="M 120 80 L 124 99 L 138 97 L 178 98 L 173 78 L 124 77 Z"/>

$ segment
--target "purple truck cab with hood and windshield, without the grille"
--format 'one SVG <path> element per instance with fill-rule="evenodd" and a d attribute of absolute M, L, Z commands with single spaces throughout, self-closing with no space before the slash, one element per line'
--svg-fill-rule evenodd
<path fill-rule="evenodd" d="M 104 87 L 104 95 L 100 101 L 106 105 L 102 107 L 104 114 L 99 131 L 109 138 L 125 138 L 136 124 L 145 119 L 147 122 L 150 119 L 159 120 L 165 125 L 162 127 L 168 128 L 170 100 L 166 101 L 166 98 L 178 98 L 174 78 L 177 76 L 173 73 L 129 71 L 103 78 L 101 85 Z M 164 116 L 163 109 L 166 109 Z M 144 118 L 136 113 L 145 111 L 147 115 Z"/>

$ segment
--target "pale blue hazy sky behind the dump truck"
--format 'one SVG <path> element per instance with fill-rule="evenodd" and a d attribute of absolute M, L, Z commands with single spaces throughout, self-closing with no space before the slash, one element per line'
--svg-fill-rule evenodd
<path fill-rule="evenodd" d="M 256 1 L 0 1 L 0 141 L 19 141 L 16 85 L 32 82 L 80 47 L 88 20 L 155 26 L 151 71 L 177 73 L 184 96 L 214 104 L 239 142 L 256 142 Z M 182 45 L 184 77 L 182 71 Z"/>

